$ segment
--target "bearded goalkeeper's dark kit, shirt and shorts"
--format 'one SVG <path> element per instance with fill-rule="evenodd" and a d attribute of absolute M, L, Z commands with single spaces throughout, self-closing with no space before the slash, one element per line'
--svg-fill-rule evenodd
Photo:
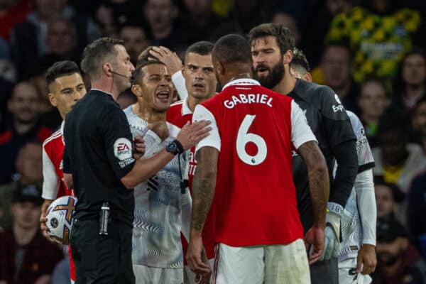
<path fill-rule="evenodd" d="M 356 136 L 351 121 L 339 97 L 334 91 L 319 84 L 297 80 L 290 94 L 305 112 L 307 122 L 317 137 L 318 145 L 325 157 L 330 178 L 329 202 L 344 207 L 351 195 L 358 173 Z M 338 163 L 333 178 L 334 163 Z M 300 155 L 293 154 L 293 177 L 297 192 L 300 219 L 305 232 L 313 224 L 307 168 Z M 312 283 L 334 283 L 338 281 L 337 258 L 310 266 Z M 333 280 L 334 279 L 334 280 Z M 324 282 L 324 280 L 327 280 Z M 337 282 L 336 282 L 337 283 Z"/>

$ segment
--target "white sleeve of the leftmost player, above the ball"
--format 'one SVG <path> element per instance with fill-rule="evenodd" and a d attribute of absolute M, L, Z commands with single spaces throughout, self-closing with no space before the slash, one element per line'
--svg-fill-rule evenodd
<path fill-rule="evenodd" d="M 55 200 L 58 196 L 59 182 L 55 166 L 43 147 L 43 193 L 41 197 L 45 200 Z"/>

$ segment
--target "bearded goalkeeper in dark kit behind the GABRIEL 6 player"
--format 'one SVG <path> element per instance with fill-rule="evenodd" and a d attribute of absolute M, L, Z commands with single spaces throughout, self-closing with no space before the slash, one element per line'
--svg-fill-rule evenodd
<path fill-rule="evenodd" d="M 327 204 L 324 251 L 320 261 L 310 266 L 312 283 L 338 283 L 340 219 L 358 171 L 356 136 L 351 121 L 337 94 L 326 86 L 298 80 L 290 72 L 295 40 L 288 28 L 277 23 L 265 23 L 249 33 L 253 76 L 265 87 L 287 94 L 306 114 L 307 122 L 327 161 L 330 196 Z M 338 163 L 333 178 L 334 163 Z M 300 219 L 305 231 L 312 226 L 306 165 L 293 153 L 294 179 Z"/>

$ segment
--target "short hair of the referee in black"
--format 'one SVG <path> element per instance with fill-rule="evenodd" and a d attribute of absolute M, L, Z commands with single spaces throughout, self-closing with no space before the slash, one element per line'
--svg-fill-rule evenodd
<path fill-rule="evenodd" d="M 90 79 L 99 78 L 100 67 L 104 64 L 104 60 L 109 56 L 114 58 L 117 55 L 115 45 L 124 45 L 124 41 L 115 38 L 98 38 L 84 48 L 81 66 Z"/>

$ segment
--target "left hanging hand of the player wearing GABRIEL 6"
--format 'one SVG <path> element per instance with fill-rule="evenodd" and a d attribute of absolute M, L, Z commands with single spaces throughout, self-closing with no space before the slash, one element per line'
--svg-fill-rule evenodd
<path fill-rule="evenodd" d="M 191 270 L 200 275 L 211 274 L 209 261 L 202 246 L 202 237 L 192 237 L 188 244 L 186 260 Z M 202 276 L 205 278 L 204 276 Z"/>

